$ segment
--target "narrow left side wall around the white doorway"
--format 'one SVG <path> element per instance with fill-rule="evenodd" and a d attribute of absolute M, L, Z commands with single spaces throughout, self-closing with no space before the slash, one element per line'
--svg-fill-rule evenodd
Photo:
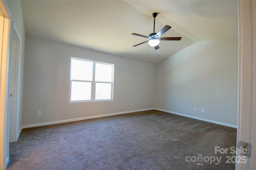
<path fill-rule="evenodd" d="M 18 87 L 18 132 L 22 127 L 22 107 L 23 107 L 23 82 L 24 82 L 24 58 L 25 58 L 25 42 L 26 32 L 23 20 L 22 5 L 20 0 L 7 0 L 8 8 L 12 14 L 12 21 L 14 21 L 18 33 L 21 37 L 21 49 L 20 49 L 20 77 Z M 10 127 L 12 128 L 12 127 Z M 18 134 L 17 134 L 18 135 Z"/>

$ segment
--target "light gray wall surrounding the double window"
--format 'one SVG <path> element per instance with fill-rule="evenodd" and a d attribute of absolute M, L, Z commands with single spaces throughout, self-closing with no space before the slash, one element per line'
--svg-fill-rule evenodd
<path fill-rule="evenodd" d="M 69 103 L 70 57 L 115 64 L 114 101 Z M 27 36 L 23 125 L 151 108 L 154 76 L 155 64 Z"/>

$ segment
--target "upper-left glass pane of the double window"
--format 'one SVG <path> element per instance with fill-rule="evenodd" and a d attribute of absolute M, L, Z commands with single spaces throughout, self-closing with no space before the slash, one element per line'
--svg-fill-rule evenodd
<path fill-rule="evenodd" d="M 72 80 L 92 81 L 92 62 L 71 59 Z"/>

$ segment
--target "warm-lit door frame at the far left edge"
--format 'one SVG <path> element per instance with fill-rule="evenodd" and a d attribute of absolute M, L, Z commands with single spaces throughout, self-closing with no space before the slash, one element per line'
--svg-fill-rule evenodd
<path fill-rule="evenodd" d="M 9 162 L 9 115 L 8 115 L 8 70 L 10 59 L 10 47 L 12 34 L 11 12 L 5 0 L 0 0 L 0 10 L 4 16 L 4 33 L 5 43 L 1 43 L 0 58 L 0 169 L 6 169 Z M 2 39 L 1 39 L 2 41 Z"/>

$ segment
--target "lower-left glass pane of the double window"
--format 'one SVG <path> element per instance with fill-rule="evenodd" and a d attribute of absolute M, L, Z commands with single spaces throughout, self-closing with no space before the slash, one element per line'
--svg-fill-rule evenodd
<path fill-rule="evenodd" d="M 91 100 L 91 82 L 71 82 L 71 101 Z"/>

